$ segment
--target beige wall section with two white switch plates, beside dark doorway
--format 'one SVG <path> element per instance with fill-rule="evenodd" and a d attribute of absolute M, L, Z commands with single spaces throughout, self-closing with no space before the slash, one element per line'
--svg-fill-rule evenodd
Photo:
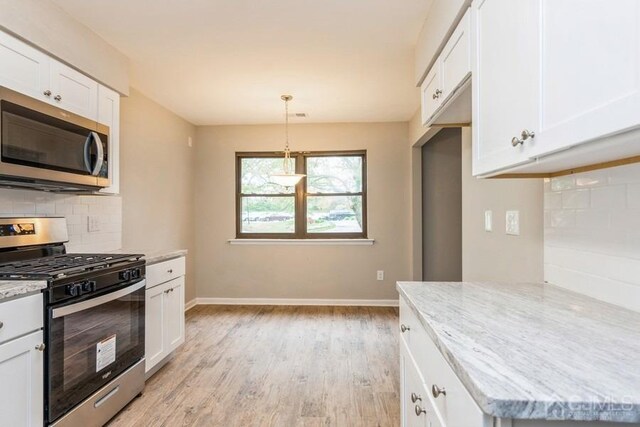
<path fill-rule="evenodd" d="M 543 280 L 543 180 L 471 176 L 471 128 L 462 128 L 462 279 Z M 493 232 L 484 211 L 493 211 Z M 507 210 L 520 211 L 520 236 L 505 234 Z"/>

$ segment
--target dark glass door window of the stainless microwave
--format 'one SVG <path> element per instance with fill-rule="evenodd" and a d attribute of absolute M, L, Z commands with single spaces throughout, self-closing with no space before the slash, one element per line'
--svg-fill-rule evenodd
<path fill-rule="evenodd" d="M 107 136 L 100 139 L 105 145 Z M 2 101 L 3 162 L 90 175 L 97 162 L 95 147 L 91 129 Z"/>

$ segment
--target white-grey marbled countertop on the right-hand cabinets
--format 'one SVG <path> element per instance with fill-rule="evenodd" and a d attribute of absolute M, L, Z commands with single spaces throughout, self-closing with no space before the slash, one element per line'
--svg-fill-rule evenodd
<path fill-rule="evenodd" d="M 640 313 L 544 284 L 397 289 L 485 413 L 640 422 Z"/>

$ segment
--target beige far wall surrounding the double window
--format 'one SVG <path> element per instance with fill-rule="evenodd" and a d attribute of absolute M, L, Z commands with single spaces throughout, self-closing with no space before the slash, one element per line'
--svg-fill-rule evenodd
<path fill-rule="evenodd" d="M 282 150 L 282 125 L 198 127 L 195 224 L 198 297 L 396 299 L 410 278 L 406 123 L 305 124 L 294 150 L 367 150 L 373 246 L 239 246 L 235 152 Z M 376 270 L 385 280 L 376 281 Z"/>

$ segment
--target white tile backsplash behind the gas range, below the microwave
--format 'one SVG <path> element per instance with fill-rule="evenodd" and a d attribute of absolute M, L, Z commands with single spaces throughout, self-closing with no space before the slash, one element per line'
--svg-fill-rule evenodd
<path fill-rule="evenodd" d="M 90 213 L 99 217 L 99 232 L 88 231 Z M 122 247 L 122 199 L 119 196 L 0 189 L 0 215 L 64 216 L 69 232 L 69 252 L 109 252 Z"/>

